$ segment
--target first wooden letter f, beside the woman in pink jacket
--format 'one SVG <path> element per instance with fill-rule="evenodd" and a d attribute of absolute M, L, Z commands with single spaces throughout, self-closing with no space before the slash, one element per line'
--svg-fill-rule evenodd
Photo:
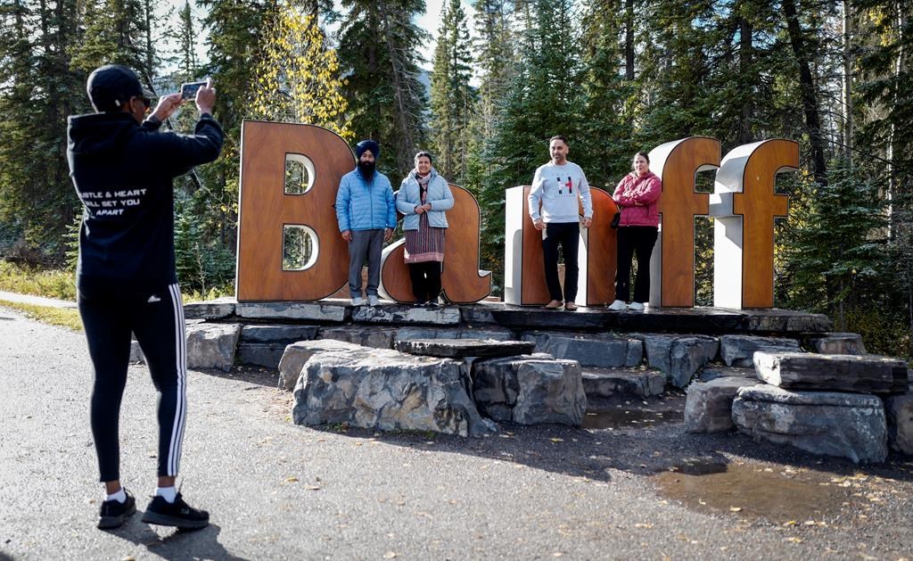
<path fill-rule="evenodd" d="M 709 194 L 695 174 L 719 167 L 719 141 L 692 136 L 650 151 L 650 170 L 663 180 L 660 233 L 650 261 L 650 306 L 694 306 L 694 217 L 709 212 Z"/>

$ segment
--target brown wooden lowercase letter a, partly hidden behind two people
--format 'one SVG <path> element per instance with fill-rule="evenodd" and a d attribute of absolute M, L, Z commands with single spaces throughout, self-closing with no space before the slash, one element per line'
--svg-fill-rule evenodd
<path fill-rule="evenodd" d="M 478 270 L 481 213 L 472 193 L 459 185 L 449 185 L 454 196 L 454 207 L 447 211 L 448 228 L 444 237 L 441 287 L 450 302 L 478 302 L 488 298 L 491 293 L 491 271 Z M 405 239 L 383 249 L 380 292 L 396 302 L 415 302 L 404 253 Z"/>

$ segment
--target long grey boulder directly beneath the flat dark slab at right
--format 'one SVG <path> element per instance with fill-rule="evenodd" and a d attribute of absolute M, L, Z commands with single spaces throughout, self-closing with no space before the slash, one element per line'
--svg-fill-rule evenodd
<path fill-rule="evenodd" d="M 813 454 L 855 463 L 887 458 L 885 408 L 875 396 L 743 387 L 732 402 L 732 421 L 753 439 Z"/>

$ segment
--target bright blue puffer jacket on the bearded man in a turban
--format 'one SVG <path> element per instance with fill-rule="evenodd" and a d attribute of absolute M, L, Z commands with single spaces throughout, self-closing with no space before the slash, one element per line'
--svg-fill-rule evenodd
<path fill-rule="evenodd" d="M 341 232 L 396 228 L 394 188 L 387 176 L 374 172 L 373 179 L 365 181 L 357 167 L 342 175 L 336 193 L 336 219 Z"/>

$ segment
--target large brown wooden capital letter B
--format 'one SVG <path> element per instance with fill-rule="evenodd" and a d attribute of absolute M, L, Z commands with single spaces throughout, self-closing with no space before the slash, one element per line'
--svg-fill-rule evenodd
<path fill-rule="evenodd" d="M 286 154 L 313 163 L 310 189 L 286 195 Z M 245 121 L 241 125 L 237 300 L 320 300 L 348 280 L 349 248 L 333 208 L 352 149 L 334 132 L 307 124 Z M 282 270 L 283 230 L 316 233 L 317 259 L 305 270 Z"/>

